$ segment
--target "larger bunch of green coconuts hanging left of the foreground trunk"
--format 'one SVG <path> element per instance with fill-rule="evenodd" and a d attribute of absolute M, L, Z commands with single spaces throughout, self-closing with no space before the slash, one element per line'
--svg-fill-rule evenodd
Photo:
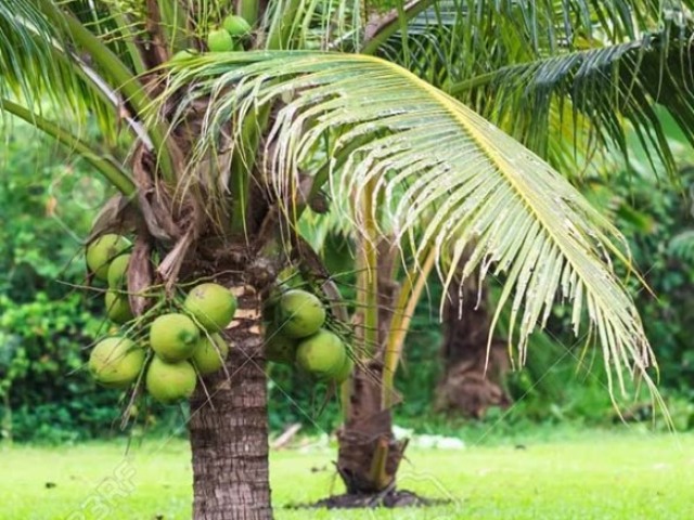
<path fill-rule="evenodd" d="M 171 404 L 189 398 L 198 376 L 219 370 L 229 353 L 221 332 L 236 311 L 236 298 L 214 283 L 195 285 L 181 304 L 171 303 L 136 320 L 126 291 L 131 249 L 120 235 L 105 234 L 89 244 L 87 266 L 106 282 L 108 318 L 124 325 L 118 334 L 102 339 L 91 351 L 89 369 L 107 388 L 128 388 L 141 376 L 147 392 L 158 402 Z M 170 303 L 170 302 L 169 302 Z M 132 326 L 125 326 L 132 323 Z M 143 327 L 144 325 L 144 327 Z M 133 335 L 133 329 L 144 335 Z"/>

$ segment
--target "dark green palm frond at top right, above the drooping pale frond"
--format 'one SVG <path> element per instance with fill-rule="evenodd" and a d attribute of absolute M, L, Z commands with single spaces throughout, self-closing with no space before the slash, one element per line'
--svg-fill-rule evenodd
<path fill-rule="evenodd" d="M 633 0 L 441 0 L 411 22 L 407 47 L 396 35 L 381 52 L 553 162 L 586 154 L 587 143 L 588 156 L 617 146 L 628 157 L 628 119 L 674 173 L 654 104 L 677 114 L 691 134 L 692 110 L 683 104 L 692 76 L 691 9 L 692 2 Z M 571 139 L 562 143 L 552 126 L 557 115 L 560 127 L 577 132 L 573 151 Z"/>

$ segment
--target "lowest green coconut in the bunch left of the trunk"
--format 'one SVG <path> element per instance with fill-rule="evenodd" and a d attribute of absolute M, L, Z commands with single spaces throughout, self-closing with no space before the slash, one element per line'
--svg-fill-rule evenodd
<path fill-rule="evenodd" d="M 166 363 L 154 356 L 147 367 L 145 387 L 150 395 L 162 404 L 172 404 L 193 394 L 197 376 L 188 361 Z"/>

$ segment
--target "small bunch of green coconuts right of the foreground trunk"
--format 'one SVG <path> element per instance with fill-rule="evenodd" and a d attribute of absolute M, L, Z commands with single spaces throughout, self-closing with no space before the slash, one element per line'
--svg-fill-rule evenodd
<path fill-rule="evenodd" d="M 325 328 L 321 300 L 301 289 L 282 290 L 264 309 L 268 361 L 296 366 L 319 382 L 339 385 L 354 368 L 342 338 Z"/>

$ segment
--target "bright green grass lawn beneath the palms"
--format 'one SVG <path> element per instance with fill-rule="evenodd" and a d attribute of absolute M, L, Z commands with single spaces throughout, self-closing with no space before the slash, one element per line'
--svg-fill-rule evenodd
<path fill-rule="evenodd" d="M 515 441 L 514 441 L 515 442 Z M 187 519 L 191 515 L 188 445 L 0 447 L 0 518 Z M 338 493 L 335 452 L 273 453 L 279 520 L 319 519 L 648 519 L 694 518 L 694 435 L 586 433 L 569 441 L 500 441 L 460 451 L 412 450 L 401 486 L 452 500 L 426 509 L 291 510 Z"/>

